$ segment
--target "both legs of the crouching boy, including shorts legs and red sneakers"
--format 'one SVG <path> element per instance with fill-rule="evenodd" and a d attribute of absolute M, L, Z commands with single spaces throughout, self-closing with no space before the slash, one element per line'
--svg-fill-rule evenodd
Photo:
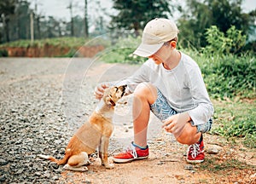
<path fill-rule="evenodd" d="M 114 162 L 125 163 L 134 159 L 148 158 L 147 146 L 147 129 L 150 110 L 154 112 L 160 120 L 177 114 L 166 98 L 152 84 L 141 83 L 134 92 L 133 101 L 133 124 L 134 124 L 134 141 L 132 142 L 132 150 L 119 153 L 113 157 Z M 210 124 L 209 124 L 210 123 Z M 204 160 L 203 141 L 201 132 L 211 129 L 212 120 L 205 125 L 192 126 L 192 124 L 184 124 L 181 134 L 176 138 L 182 144 L 188 144 L 188 158 L 190 163 L 201 163 Z"/>

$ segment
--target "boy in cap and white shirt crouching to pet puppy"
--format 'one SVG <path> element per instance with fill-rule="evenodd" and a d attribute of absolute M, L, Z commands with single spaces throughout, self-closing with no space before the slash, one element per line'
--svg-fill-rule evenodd
<path fill-rule="evenodd" d="M 148 57 L 148 60 L 121 82 L 134 94 L 134 141 L 130 149 L 113 156 L 116 163 L 148 158 L 150 111 L 178 142 L 189 145 L 187 162 L 204 161 L 202 133 L 211 129 L 214 110 L 199 66 L 176 49 L 178 32 L 174 22 L 162 18 L 150 20 L 143 30 L 142 43 L 133 54 Z M 106 88 L 107 83 L 96 87 L 96 99 L 102 98 Z"/>

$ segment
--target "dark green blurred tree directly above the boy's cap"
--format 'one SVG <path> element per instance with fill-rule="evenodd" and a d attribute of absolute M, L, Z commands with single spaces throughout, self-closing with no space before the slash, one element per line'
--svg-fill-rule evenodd
<path fill-rule="evenodd" d="M 111 16 L 111 28 L 138 31 L 156 17 L 172 16 L 168 0 L 113 0 L 113 9 L 119 11 Z"/>

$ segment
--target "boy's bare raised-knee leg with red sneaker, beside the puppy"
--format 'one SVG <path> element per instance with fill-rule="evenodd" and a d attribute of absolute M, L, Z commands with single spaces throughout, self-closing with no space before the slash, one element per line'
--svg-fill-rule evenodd
<path fill-rule="evenodd" d="M 157 98 L 157 89 L 150 83 L 140 83 L 134 91 L 133 129 L 134 141 L 125 152 L 113 156 L 115 163 L 127 163 L 136 159 L 148 158 L 147 129 L 150 104 Z"/>

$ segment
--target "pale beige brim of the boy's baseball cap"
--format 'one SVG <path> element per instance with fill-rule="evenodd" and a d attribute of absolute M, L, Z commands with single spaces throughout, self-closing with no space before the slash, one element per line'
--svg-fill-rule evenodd
<path fill-rule="evenodd" d="M 141 43 L 138 48 L 133 52 L 133 55 L 138 55 L 142 57 L 154 55 L 154 53 L 156 53 L 163 46 L 163 44 L 164 43 L 149 45 Z"/>

